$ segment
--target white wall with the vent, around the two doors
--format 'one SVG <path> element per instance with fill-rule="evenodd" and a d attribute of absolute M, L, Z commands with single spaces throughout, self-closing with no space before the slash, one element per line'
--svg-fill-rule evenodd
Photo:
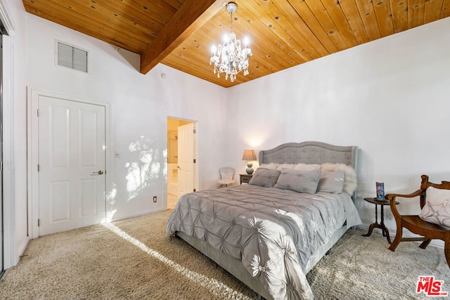
<path fill-rule="evenodd" d="M 89 74 L 55 66 L 56 39 L 89 51 Z M 111 103 L 111 150 L 121 155 L 113 158 L 115 197 L 109 201 L 113 220 L 165 208 L 167 116 L 198 122 L 200 188 L 214 185 L 226 155 L 224 141 L 215 141 L 226 130 L 223 88 L 165 65 L 140 74 L 121 53 L 110 44 L 27 14 L 27 60 L 32 62 L 28 85 Z M 134 171 L 143 169 L 139 154 L 144 148 L 153 157 L 152 171 L 136 178 Z M 157 203 L 152 201 L 154 195 Z"/>

